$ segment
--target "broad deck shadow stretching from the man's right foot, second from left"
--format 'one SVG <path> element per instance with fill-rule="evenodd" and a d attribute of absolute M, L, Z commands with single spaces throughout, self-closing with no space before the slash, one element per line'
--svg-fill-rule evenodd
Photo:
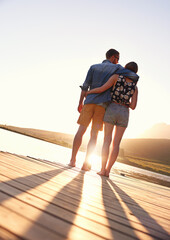
<path fill-rule="evenodd" d="M 81 202 L 83 182 L 84 173 L 80 172 L 48 202 L 47 207 L 42 209 L 35 223 L 62 237 L 68 237 Z M 33 230 L 34 224 L 24 235 L 29 234 L 29 231 L 32 232 Z"/>

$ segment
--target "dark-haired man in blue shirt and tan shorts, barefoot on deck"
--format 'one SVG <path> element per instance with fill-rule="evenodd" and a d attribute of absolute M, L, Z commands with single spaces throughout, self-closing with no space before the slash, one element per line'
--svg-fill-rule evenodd
<path fill-rule="evenodd" d="M 89 94 L 86 97 L 88 89 L 101 87 L 115 73 L 121 74 L 134 81 L 137 81 L 139 78 L 134 72 L 131 72 L 130 70 L 123 68 L 120 64 L 117 64 L 118 61 L 119 52 L 115 49 L 110 49 L 106 52 L 106 60 L 100 64 L 92 65 L 87 73 L 83 86 L 81 86 L 82 91 L 78 105 L 80 116 L 77 121 L 79 128 L 74 137 L 72 156 L 69 166 L 75 166 L 76 155 L 81 146 L 83 135 L 92 120 L 90 140 L 87 145 L 86 157 L 82 166 L 82 170 L 89 171 L 91 169 L 89 157 L 96 146 L 98 132 L 103 129 L 105 108 L 107 103 L 111 100 L 111 89 L 108 89 L 101 94 Z M 85 97 L 86 99 L 84 101 Z"/>

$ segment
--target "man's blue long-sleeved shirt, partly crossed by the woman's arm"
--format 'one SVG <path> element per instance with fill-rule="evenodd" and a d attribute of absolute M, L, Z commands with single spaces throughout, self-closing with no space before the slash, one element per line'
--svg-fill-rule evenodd
<path fill-rule="evenodd" d="M 81 89 L 87 91 L 89 89 L 101 87 L 113 74 L 121 74 L 135 82 L 139 79 L 139 76 L 136 73 L 125 69 L 120 64 L 113 64 L 109 60 L 104 60 L 102 63 L 90 67 Z M 99 104 L 109 101 L 111 101 L 111 88 L 102 93 L 87 95 L 84 104 Z"/>

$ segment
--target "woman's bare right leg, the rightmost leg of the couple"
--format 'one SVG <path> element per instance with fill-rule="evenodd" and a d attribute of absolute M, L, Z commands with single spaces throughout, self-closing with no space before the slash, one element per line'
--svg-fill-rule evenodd
<path fill-rule="evenodd" d="M 114 138 L 113 138 L 113 143 L 112 143 L 113 144 L 112 145 L 112 150 L 111 150 L 108 165 L 107 165 L 106 171 L 105 171 L 105 176 L 106 177 L 109 177 L 110 170 L 111 170 L 113 164 L 115 163 L 115 161 L 117 159 L 117 156 L 119 154 L 120 142 L 122 140 L 122 137 L 123 137 L 123 134 L 124 134 L 125 130 L 126 130 L 125 127 L 116 126 L 115 134 L 114 134 Z"/>

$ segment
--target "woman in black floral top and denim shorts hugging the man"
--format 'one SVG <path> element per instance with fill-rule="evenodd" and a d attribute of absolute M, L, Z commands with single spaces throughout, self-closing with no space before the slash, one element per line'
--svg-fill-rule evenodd
<path fill-rule="evenodd" d="M 126 64 L 125 68 L 137 73 L 138 66 L 135 62 Z M 129 108 L 135 109 L 137 105 L 138 88 L 137 82 L 131 79 L 114 74 L 101 87 L 88 91 L 87 94 L 101 93 L 107 89 L 112 89 L 112 100 L 108 105 L 104 115 L 104 142 L 102 147 L 102 168 L 98 173 L 109 177 L 110 170 L 115 163 L 119 146 L 123 134 L 128 126 Z M 112 132 L 115 126 L 114 138 L 112 141 Z M 112 142 L 112 149 L 109 156 L 109 148 Z"/>

